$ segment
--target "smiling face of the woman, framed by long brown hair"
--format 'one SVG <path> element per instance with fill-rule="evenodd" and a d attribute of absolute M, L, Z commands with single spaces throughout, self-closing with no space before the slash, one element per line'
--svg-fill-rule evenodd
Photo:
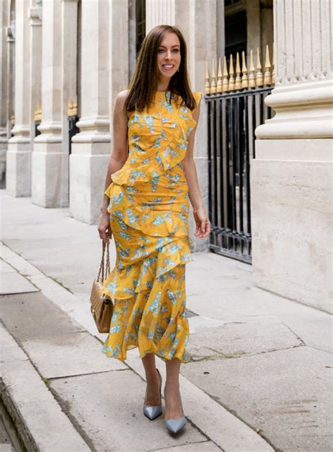
<path fill-rule="evenodd" d="M 168 33 L 157 51 L 157 66 L 161 81 L 170 79 L 181 65 L 181 42 L 175 33 Z"/>

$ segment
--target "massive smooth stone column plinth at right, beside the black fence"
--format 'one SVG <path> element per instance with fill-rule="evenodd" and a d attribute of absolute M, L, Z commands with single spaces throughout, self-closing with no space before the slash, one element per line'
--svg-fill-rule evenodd
<path fill-rule="evenodd" d="M 332 139 L 256 140 L 254 284 L 332 312 Z"/>

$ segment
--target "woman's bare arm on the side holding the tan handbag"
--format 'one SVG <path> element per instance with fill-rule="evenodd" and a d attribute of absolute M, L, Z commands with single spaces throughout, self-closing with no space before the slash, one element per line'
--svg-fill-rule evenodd
<path fill-rule="evenodd" d="M 128 90 L 122 91 L 117 95 L 115 101 L 115 109 L 113 112 L 113 143 L 112 152 L 110 154 L 109 164 L 107 166 L 107 173 L 105 178 L 104 190 L 109 187 L 112 182 L 111 175 L 118 171 L 127 159 L 127 114 L 124 111 L 124 102 L 126 100 L 126 94 Z M 107 212 L 107 206 L 109 204 L 109 198 L 103 194 L 103 204 L 100 210 Z"/>

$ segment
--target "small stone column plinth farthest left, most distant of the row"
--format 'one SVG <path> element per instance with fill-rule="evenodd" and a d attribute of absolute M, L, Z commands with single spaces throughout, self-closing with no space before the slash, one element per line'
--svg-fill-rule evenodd
<path fill-rule="evenodd" d="M 13 197 L 31 196 L 30 142 L 8 142 L 6 155 L 6 192 Z"/>

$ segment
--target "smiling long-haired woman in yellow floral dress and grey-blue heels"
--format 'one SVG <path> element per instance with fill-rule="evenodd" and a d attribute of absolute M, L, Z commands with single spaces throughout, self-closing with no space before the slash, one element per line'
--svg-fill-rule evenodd
<path fill-rule="evenodd" d="M 193 160 L 201 93 L 188 81 L 186 44 L 177 27 L 159 25 L 145 37 L 129 90 L 117 95 L 113 148 L 105 180 L 98 232 L 115 237 L 115 268 L 103 292 L 115 300 L 103 352 L 124 361 L 138 347 L 147 389 L 143 413 L 162 413 L 162 377 L 155 354 L 166 364 L 165 423 L 185 425 L 179 392 L 189 327 L 185 315 L 185 264 L 190 262 L 189 201 L 195 236 L 210 223 Z M 129 149 L 129 153 L 127 153 Z"/>

